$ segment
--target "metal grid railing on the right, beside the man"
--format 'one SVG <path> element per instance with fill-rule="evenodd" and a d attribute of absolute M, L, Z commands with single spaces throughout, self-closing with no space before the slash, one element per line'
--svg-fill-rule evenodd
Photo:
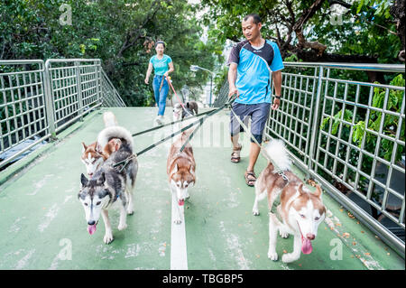
<path fill-rule="evenodd" d="M 404 66 L 284 65 L 264 135 L 284 140 L 301 170 L 404 257 L 405 88 L 367 79 L 404 79 Z"/>

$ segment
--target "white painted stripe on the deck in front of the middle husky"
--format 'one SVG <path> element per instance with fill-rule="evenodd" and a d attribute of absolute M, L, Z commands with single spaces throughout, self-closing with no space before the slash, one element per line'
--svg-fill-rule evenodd
<path fill-rule="evenodd" d="M 188 255 L 186 249 L 186 230 L 184 206 L 180 207 L 182 214 L 182 222 L 175 224 L 175 214 L 178 205 L 176 200 L 172 199 L 172 215 L 171 215 L 171 270 L 188 270 Z"/>

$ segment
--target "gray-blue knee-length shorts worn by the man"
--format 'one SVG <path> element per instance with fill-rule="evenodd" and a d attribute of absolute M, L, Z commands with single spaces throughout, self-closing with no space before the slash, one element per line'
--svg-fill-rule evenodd
<path fill-rule="evenodd" d="M 232 108 L 235 115 L 240 116 L 240 119 L 245 125 L 248 125 L 248 119 L 251 117 L 251 133 L 259 144 L 263 142 L 263 128 L 265 128 L 266 121 L 269 117 L 271 103 L 259 104 L 241 104 L 234 102 Z M 235 119 L 233 112 L 230 112 L 230 133 L 232 136 L 240 132 L 244 132 L 244 128 Z M 250 137 L 251 142 L 254 140 Z"/>

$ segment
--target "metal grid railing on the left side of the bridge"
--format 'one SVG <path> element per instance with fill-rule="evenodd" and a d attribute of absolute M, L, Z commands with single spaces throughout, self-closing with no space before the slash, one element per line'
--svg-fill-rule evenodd
<path fill-rule="evenodd" d="M 125 103 L 98 59 L 0 60 L 0 168 L 101 106 Z"/>

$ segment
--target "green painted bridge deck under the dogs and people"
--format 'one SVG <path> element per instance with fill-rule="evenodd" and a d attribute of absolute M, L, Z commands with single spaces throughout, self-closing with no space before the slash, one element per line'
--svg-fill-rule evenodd
<path fill-rule="evenodd" d="M 152 126 L 154 108 L 112 108 L 119 125 L 135 133 Z M 103 243 L 103 220 L 90 236 L 78 201 L 81 142 L 91 143 L 103 128 L 102 112 L 87 116 L 0 174 L 0 269 L 171 269 L 171 196 L 166 174 L 169 143 L 140 155 L 134 215 L 118 231 L 118 209 L 110 211 L 115 240 Z M 167 109 L 167 120 L 171 111 Z M 404 269 L 404 260 L 346 209 L 323 193 L 328 217 L 318 228 L 313 252 L 283 264 L 267 257 L 266 201 L 254 217 L 254 188 L 243 178 L 249 139 L 243 136 L 242 162 L 229 160 L 228 112 L 205 122 L 192 140 L 197 183 L 185 202 L 189 269 Z M 135 152 L 168 135 L 134 138 Z M 256 172 L 265 160 L 260 156 Z M 303 179 L 304 175 L 295 169 Z M 310 189 L 313 189 L 310 187 Z M 292 237 L 278 237 L 277 252 L 291 252 Z"/>

